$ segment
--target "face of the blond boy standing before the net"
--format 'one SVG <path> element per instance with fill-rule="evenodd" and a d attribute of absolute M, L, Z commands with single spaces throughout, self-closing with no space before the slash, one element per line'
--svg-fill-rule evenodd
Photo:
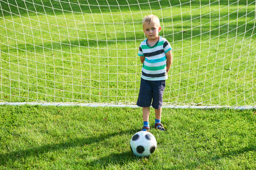
<path fill-rule="evenodd" d="M 149 40 L 156 40 L 158 38 L 158 33 L 160 32 L 161 27 L 156 25 L 156 23 L 145 22 L 143 25 L 143 31 Z"/>

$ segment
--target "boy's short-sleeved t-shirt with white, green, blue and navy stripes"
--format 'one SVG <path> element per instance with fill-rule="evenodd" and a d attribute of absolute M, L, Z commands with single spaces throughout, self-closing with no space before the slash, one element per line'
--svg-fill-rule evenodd
<path fill-rule="evenodd" d="M 142 66 L 141 78 L 145 80 L 166 80 L 166 55 L 172 50 L 171 45 L 165 39 L 159 36 L 159 41 L 152 47 L 148 46 L 147 40 L 141 42 L 138 56 L 144 56 L 145 61 Z"/>

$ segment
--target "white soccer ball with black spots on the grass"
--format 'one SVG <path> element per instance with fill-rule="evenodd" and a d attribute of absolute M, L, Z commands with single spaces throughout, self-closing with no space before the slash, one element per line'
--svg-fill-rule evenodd
<path fill-rule="evenodd" d="M 156 150 L 156 138 L 147 131 L 140 131 L 130 140 L 131 151 L 136 156 L 148 157 Z"/>

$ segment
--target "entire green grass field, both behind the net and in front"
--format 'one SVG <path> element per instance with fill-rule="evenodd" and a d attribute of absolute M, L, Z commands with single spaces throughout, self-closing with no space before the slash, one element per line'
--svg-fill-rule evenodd
<path fill-rule="evenodd" d="M 0 0 L 0 102 L 135 104 L 152 11 L 173 47 L 164 104 L 255 106 L 255 0 L 151 1 Z M 0 110 L 0 170 L 256 167 L 255 110 L 164 108 L 147 158 L 129 146 L 140 108 Z"/>

